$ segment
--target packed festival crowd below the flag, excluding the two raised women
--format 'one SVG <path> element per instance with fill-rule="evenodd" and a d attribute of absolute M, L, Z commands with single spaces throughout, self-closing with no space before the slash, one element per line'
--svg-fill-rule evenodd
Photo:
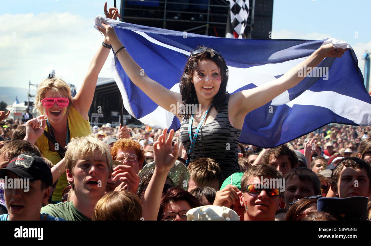
<path fill-rule="evenodd" d="M 4 220 L 371 217 L 368 126 L 330 124 L 272 149 L 239 143 L 240 170 L 229 177 L 213 156 L 198 157 L 185 166 L 187 153 L 178 147 L 180 131 L 167 134 L 167 129 L 112 127 L 110 123 L 91 126 L 92 135 L 71 139 L 64 158 L 53 165 L 36 145 L 23 140 L 26 127 L 22 122 L 4 119 L 0 127 L 0 218 Z M 30 166 L 24 168 L 25 162 Z M 62 172 L 69 184 L 63 187 L 63 199 L 53 200 Z M 5 176 L 8 180 L 30 178 L 30 187 L 40 188 L 37 192 L 4 189 L 1 178 Z M 282 179 L 284 184 L 265 187 L 266 178 Z M 336 197 L 354 197 L 354 201 L 341 213 L 324 205 L 317 210 L 318 204 L 332 203 Z M 364 213 L 359 204 L 364 205 Z"/>

